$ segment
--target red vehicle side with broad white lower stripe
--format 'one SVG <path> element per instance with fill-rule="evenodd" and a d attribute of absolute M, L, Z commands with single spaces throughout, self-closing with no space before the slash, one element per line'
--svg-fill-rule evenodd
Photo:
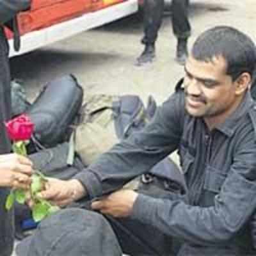
<path fill-rule="evenodd" d="M 31 0 L 31 9 L 18 15 L 19 52 L 13 50 L 12 32 L 6 29 L 10 56 L 33 51 L 137 11 L 138 0 Z"/>

